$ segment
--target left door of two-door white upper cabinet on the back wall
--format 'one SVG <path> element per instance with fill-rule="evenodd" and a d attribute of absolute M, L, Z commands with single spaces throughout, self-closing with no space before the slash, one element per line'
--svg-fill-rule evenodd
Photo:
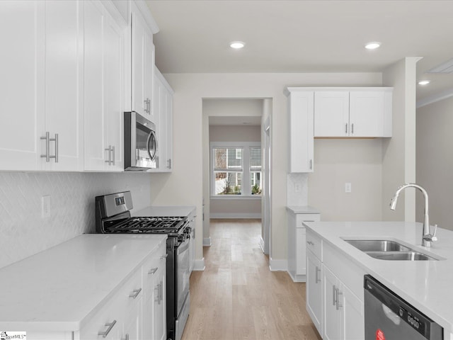
<path fill-rule="evenodd" d="M 314 93 L 314 136 L 349 135 L 349 91 Z"/>

